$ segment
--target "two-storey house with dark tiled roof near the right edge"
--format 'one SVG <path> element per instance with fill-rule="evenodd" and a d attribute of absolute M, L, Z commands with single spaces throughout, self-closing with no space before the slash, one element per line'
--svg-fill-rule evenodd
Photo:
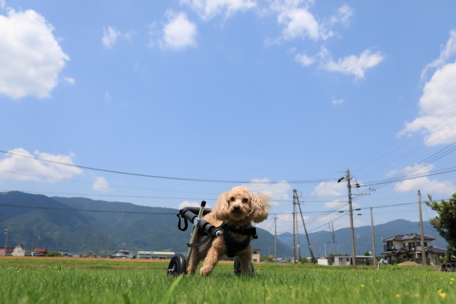
<path fill-rule="evenodd" d="M 424 236 L 424 252 L 426 258 L 431 260 L 431 263 L 438 264 L 438 256 L 445 256 L 446 250 L 431 246 L 431 242 L 435 240 L 434 237 L 429 235 Z M 383 246 L 384 260 L 387 263 L 391 263 L 394 258 L 402 257 L 407 260 L 416 260 L 422 257 L 422 244 L 420 233 L 410 233 L 408 235 L 394 235 L 384 239 L 386 242 Z"/>

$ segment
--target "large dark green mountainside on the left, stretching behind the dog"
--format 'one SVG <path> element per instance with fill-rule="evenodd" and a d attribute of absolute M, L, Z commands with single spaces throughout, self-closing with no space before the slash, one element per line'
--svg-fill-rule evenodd
<path fill-rule="evenodd" d="M 108 235 L 108 254 L 121 247 L 130 251 L 187 252 L 190 230 L 177 229 L 176 209 L 88 198 L 49 198 L 17 191 L 1 193 L 0 204 L 0 227 L 11 224 L 8 246 L 32 247 L 36 227 L 39 247 L 50 251 L 55 251 L 59 242 L 59 251 L 102 255 Z M 261 249 L 262 254 L 274 254 L 274 235 L 261 228 L 257 228 L 257 234 L 253 247 Z M 0 242 L 4 244 L 5 235 L 1 235 Z M 290 254 L 290 247 L 278 241 L 277 255 Z"/>

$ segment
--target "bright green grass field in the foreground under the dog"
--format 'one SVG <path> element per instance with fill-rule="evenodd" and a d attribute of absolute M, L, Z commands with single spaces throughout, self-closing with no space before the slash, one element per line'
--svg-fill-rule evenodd
<path fill-rule="evenodd" d="M 456 275 L 394 270 L 256 264 L 236 277 L 232 264 L 212 276 L 172 278 L 167 263 L 0 258 L 0 303 L 456 303 Z"/>

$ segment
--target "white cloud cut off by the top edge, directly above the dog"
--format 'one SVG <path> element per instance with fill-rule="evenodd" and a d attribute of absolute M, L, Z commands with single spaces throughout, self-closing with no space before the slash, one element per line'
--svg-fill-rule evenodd
<path fill-rule="evenodd" d="M 255 1 L 250 0 L 180 0 L 180 3 L 187 4 L 203 20 L 209 20 L 222 13 L 228 18 L 236 11 L 248 11 L 257 6 Z"/>

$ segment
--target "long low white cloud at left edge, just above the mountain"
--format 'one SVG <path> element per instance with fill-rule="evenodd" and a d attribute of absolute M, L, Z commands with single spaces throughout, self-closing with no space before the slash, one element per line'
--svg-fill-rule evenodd
<path fill-rule="evenodd" d="M 74 177 L 74 175 L 83 173 L 83 171 L 78 167 L 58 165 L 34 159 L 41 158 L 43 160 L 51 160 L 58 163 L 67 163 L 70 165 L 74 165 L 73 153 L 70 153 L 68 156 L 64 156 L 60 154 L 53 155 L 49 153 L 41 153 L 39 151 L 35 151 L 34 154 L 36 156 L 32 156 L 31 153 L 29 153 L 23 148 L 15 148 L 8 152 L 19 154 L 22 156 L 27 156 L 28 158 L 6 154 L 6 157 L 3 160 L 0 160 L 0 179 L 41 181 L 41 177 L 36 177 L 36 175 L 39 175 L 49 177 L 47 180 L 53 183 L 55 181 L 58 181 L 57 179 L 69 179 L 71 177 Z M 4 171 L 17 172 L 19 174 L 11 174 Z"/>

